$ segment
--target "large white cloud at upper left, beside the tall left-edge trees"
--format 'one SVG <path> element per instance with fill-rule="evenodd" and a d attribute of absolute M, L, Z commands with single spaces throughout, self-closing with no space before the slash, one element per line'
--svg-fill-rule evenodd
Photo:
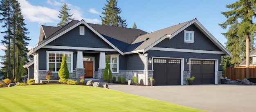
<path fill-rule="evenodd" d="M 30 22 L 43 23 L 56 23 L 58 20 L 58 11 L 47 7 L 31 5 L 26 0 L 19 0 L 21 12 L 24 19 Z"/>

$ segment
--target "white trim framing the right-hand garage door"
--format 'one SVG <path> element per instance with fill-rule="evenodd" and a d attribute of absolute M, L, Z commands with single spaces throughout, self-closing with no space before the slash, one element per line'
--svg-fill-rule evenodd
<path fill-rule="evenodd" d="M 191 71 L 191 61 L 190 60 L 214 60 L 214 84 L 218 84 L 219 60 L 216 60 L 216 59 L 189 58 L 189 70 L 190 71 Z"/>

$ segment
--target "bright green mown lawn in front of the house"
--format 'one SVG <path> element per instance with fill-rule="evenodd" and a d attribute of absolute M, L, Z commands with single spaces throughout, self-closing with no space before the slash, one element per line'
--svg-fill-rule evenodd
<path fill-rule="evenodd" d="M 200 112 L 101 87 L 27 85 L 0 88 L 0 112 Z"/>

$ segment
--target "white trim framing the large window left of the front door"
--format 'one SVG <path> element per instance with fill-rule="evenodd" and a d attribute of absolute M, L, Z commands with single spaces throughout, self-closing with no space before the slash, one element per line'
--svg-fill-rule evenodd
<path fill-rule="evenodd" d="M 57 53 L 57 54 L 71 54 L 71 65 L 70 65 L 70 73 L 73 73 L 73 53 L 74 52 L 67 52 L 67 51 L 45 51 L 46 52 L 46 71 L 49 70 L 49 53 Z M 56 62 L 55 62 L 56 63 Z M 56 68 L 56 64 L 55 64 Z M 57 71 L 52 71 L 52 73 L 58 73 Z"/>

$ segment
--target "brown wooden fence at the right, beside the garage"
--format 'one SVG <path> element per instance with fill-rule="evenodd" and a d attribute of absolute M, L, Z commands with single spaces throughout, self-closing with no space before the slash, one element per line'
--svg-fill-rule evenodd
<path fill-rule="evenodd" d="M 227 78 L 231 80 L 246 78 L 246 67 L 226 67 Z M 256 78 L 256 66 L 249 67 L 249 78 Z"/>

